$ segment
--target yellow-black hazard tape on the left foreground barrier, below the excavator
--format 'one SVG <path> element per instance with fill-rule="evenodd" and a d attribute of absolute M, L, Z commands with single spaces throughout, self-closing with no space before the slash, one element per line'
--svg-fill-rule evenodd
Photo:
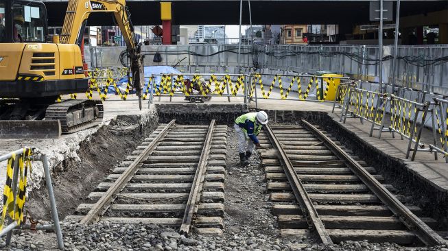
<path fill-rule="evenodd" d="M 27 172 L 31 169 L 30 156 L 32 150 L 29 148 L 23 149 L 23 154 L 16 156 L 12 153 L 12 156 L 8 159 L 6 165 L 6 182 L 3 188 L 3 211 L 0 219 L 0 230 L 3 229 L 5 224 L 5 218 L 8 214 L 10 218 L 17 222 L 18 225 L 23 221 L 23 206 L 26 200 L 26 187 L 27 187 Z M 18 159 L 17 159 L 18 158 Z M 16 159 L 19 161 L 19 190 L 16 192 L 16 203 L 14 204 L 14 193 L 12 191 L 12 179 L 14 176 L 14 163 Z M 14 212 L 14 208 L 16 209 Z"/>

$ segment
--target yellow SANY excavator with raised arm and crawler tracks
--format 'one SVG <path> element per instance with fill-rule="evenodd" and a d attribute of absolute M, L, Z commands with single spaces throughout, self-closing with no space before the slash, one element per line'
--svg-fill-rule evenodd
<path fill-rule="evenodd" d="M 69 0 L 62 34 L 51 43 L 44 3 L 0 0 L 0 137 L 54 137 L 102 121 L 102 101 L 56 101 L 59 95 L 89 88 L 80 47 L 93 12 L 115 17 L 126 42 L 128 79 L 141 108 L 143 55 L 124 0 Z"/>

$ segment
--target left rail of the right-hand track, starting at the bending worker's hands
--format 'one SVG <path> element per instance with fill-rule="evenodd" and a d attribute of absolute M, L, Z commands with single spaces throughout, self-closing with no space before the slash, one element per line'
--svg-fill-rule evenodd
<path fill-rule="evenodd" d="M 309 228 L 316 229 L 316 232 L 318 232 L 320 240 L 323 244 L 333 244 L 333 241 L 331 241 L 331 238 L 327 230 L 325 229 L 325 226 L 322 223 L 322 220 L 320 219 L 316 208 L 314 208 L 313 206 L 311 198 L 309 198 L 309 195 L 305 187 L 303 186 L 303 183 L 300 181 L 300 178 L 298 178 L 290 158 L 287 157 L 285 150 L 283 150 L 283 147 L 281 147 L 279 139 L 276 138 L 274 131 L 272 130 L 272 128 L 270 128 L 269 125 L 266 125 L 266 130 L 268 131 L 268 136 L 272 145 L 281 156 L 280 161 L 283 164 L 283 171 L 285 171 L 285 175 L 288 182 L 290 182 L 291 184 L 294 196 L 296 197 L 296 200 L 303 212 L 303 215 L 305 216 L 305 219 L 307 219 Z"/>

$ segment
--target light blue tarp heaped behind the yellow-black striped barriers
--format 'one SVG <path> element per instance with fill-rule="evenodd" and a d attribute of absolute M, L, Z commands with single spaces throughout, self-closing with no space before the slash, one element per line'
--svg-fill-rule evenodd
<path fill-rule="evenodd" d="M 145 90 L 146 86 L 148 86 L 149 77 L 152 75 L 154 75 L 154 80 L 152 80 L 152 81 L 156 83 L 156 86 L 160 86 L 160 84 L 161 84 L 160 74 L 179 74 L 179 75 L 182 74 L 180 71 L 178 71 L 174 67 L 169 67 L 167 65 L 159 65 L 159 66 L 155 66 L 155 67 L 144 67 L 144 71 L 145 71 L 145 87 L 143 88 L 143 90 Z M 175 78 L 176 78 L 176 76 L 174 77 L 174 79 Z M 184 79 L 190 79 L 190 78 L 191 78 L 191 76 L 184 76 Z M 124 91 L 126 90 L 127 84 L 128 84 L 128 77 L 123 77 L 123 78 L 121 78 L 121 80 L 119 80 L 119 82 L 117 82 L 117 87 L 120 89 L 121 93 L 124 93 Z M 109 86 L 108 93 L 115 93 L 114 86 Z M 135 93 L 135 92 L 132 91 L 132 93 Z"/>

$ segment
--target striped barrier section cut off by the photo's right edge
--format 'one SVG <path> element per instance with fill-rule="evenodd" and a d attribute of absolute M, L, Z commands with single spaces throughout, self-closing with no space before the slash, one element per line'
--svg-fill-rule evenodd
<path fill-rule="evenodd" d="M 448 163 L 448 100 L 434 98 L 434 115 L 437 121 L 437 131 L 441 146 L 429 144 L 429 149 L 443 154 Z"/>

